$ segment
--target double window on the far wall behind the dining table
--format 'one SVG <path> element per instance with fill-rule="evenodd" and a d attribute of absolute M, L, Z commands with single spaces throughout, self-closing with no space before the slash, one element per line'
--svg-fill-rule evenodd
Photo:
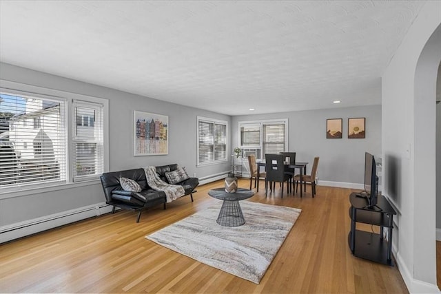
<path fill-rule="evenodd" d="M 240 147 L 245 155 L 255 154 L 257 159 L 279 154 L 288 149 L 287 126 L 287 119 L 240 122 Z"/>

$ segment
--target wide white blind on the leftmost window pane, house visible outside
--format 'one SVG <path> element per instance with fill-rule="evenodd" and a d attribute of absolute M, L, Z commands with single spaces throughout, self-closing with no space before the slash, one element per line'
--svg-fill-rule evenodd
<path fill-rule="evenodd" d="M 0 185 L 66 180 L 65 102 L 0 93 Z"/>

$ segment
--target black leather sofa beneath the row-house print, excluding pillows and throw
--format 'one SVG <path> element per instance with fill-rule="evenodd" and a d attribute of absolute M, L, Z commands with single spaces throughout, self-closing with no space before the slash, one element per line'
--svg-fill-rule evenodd
<path fill-rule="evenodd" d="M 165 173 L 174 171 L 177 168 L 177 164 L 163 165 L 156 167 L 156 173 L 161 180 L 168 182 L 167 178 L 165 177 Z M 134 193 L 125 191 L 119 183 L 119 178 L 121 177 L 130 178 L 138 182 L 138 184 L 141 186 L 141 192 Z M 136 222 L 139 222 L 139 219 L 141 218 L 141 211 L 143 209 L 154 207 L 161 203 L 164 205 L 164 209 L 166 209 L 167 198 L 165 193 L 163 191 L 153 190 L 149 187 L 143 168 L 107 172 L 102 174 L 100 179 L 101 185 L 103 185 L 105 202 L 113 206 L 112 213 L 115 212 L 116 207 L 138 211 L 138 218 L 136 219 Z M 199 185 L 198 178 L 187 178 L 187 180 L 178 182 L 175 185 L 183 186 L 185 196 L 189 195 L 193 202 L 194 189 Z M 141 196 L 139 196 L 139 194 L 141 194 Z"/>

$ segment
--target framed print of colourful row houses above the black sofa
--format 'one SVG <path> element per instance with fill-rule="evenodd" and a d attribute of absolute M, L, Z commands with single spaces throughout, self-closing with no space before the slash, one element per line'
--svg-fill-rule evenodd
<path fill-rule="evenodd" d="M 168 154 L 168 116 L 134 111 L 134 156 Z"/>

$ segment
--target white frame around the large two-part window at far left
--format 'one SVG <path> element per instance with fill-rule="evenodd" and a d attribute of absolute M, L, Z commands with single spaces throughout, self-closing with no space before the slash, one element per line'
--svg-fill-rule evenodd
<path fill-rule="evenodd" d="M 95 185 L 99 183 L 99 175 L 94 175 L 82 182 L 75 182 L 73 178 L 74 162 L 72 162 L 72 101 L 86 101 L 89 103 L 98 103 L 103 105 L 103 172 L 109 171 L 109 101 L 105 98 L 97 98 L 82 94 L 75 94 L 61 90 L 53 90 L 45 87 L 37 87 L 23 83 L 0 80 L 0 91 L 17 96 L 33 96 L 42 99 L 52 99 L 65 102 L 63 116 L 65 117 L 65 136 L 66 136 L 66 178 L 57 182 L 46 182 L 27 184 L 23 187 L 1 187 L 0 199 L 25 196 L 35 193 L 44 193 L 48 191 L 57 191 L 72 187 L 81 187 L 84 185 Z"/>

